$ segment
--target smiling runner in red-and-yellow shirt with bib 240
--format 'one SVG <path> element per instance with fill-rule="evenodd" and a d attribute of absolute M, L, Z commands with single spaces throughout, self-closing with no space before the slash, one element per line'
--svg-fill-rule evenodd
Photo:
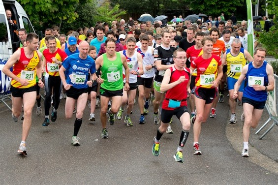
<path fill-rule="evenodd" d="M 202 40 L 203 54 L 191 62 L 191 70 L 197 69 L 195 104 L 197 110 L 193 126 L 194 143 L 193 154 L 202 154 L 199 149 L 201 124 L 205 123 L 217 94 L 218 82 L 222 77 L 222 63 L 220 57 L 212 54 L 213 39 L 205 37 Z"/>

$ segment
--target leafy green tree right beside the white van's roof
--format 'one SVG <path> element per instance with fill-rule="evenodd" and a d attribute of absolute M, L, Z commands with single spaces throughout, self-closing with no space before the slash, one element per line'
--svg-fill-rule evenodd
<path fill-rule="evenodd" d="M 83 0 L 84 1 L 84 0 Z M 36 30 L 41 27 L 72 23 L 78 17 L 75 7 L 79 0 L 18 0 Z"/>

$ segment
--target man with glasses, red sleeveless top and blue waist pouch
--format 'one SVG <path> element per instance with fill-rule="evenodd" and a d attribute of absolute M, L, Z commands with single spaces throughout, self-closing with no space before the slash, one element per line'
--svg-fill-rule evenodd
<path fill-rule="evenodd" d="M 190 84 L 190 75 L 192 71 L 185 67 L 186 53 L 179 48 L 174 51 L 174 65 L 165 71 L 161 87 L 165 91 L 165 99 L 162 103 L 161 124 L 154 137 L 153 154 L 160 154 L 160 138 L 167 130 L 172 116 L 176 115 L 182 123 L 182 133 L 179 146 L 174 158 L 178 162 L 184 162 L 183 150 L 190 130 L 190 115 L 187 109 L 187 90 Z"/>

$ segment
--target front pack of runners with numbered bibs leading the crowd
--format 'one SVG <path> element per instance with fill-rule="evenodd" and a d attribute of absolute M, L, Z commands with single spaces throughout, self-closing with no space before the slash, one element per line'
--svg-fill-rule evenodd
<path fill-rule="evenodd" d="M 72 32 L 68 35 L 68 42 L 61 44 L 54 37 L 53 30 L 47 29 L 45 33 L 47 31 L 51 34 L 40 41 L 42 54 L 37 51 L 38 36 L 35 33 L 27 35 L 25 31 L 26 47 L 18 49 L 3 68 L 3 72 L 13 79 L 12 117 L 15 122 L 20 117 L 22 106 L 24 109 L 22 141 L 18 153 L 27 154 L 26 139 L 31 128 L 32 108 L 36 99 L 40 101 L 40 97 L 36 96 L 39 95 L 39 88 L 45 86 L 46 92 L 43 126 L 50 124 L 49 109 L 52 99 L 51 121 L 57 120 L 60 94 L 62 87 L 64 88 L 65 118 L 72 118 L 73 112 L 76 111 L 74 133 L 71 138 L 71 144 L 74 146 L 80 145 L 77 134 L 83 121 L 88 94 L 91 100 L 89 121 L 95 121 L 96 96 L 100 95 L 101 138 L 108 138 L 107 114 L 108 122 L 112 125 L 116 119 L 122 120 L 126 107 L 124 123 L 127 126 L 133 125 L 130 114 L 138 89 L 140 124 L 146 122 L 145 115 L 149 113 L 149 103 L 152 101 L 151 92 L 154 95 L 153 121 L 154 124 L 160 125 L 154 137 L 153 154 L 160 154 L 162 134 L 173 133 L 170 123 L 172 116 L 176 115 L 182 123 L 182 132 L 174 158 L 178 162 L 184 162 L 183 148 L 189 134 L 190 122 L 193 124 L 193 154 L 202 154 L 199 147 L 201 125 L 209 115 L 216 118 L 212 108 L 217 102 L 219 84 L 226 80 L 223 74 L 227 74 L 232 113 L 230 123 L 236 123 L 235 99 L 238 98 L 243 102 L 242 117 L 245 118 L 242 155 L 248 156 L 249 128 L 258 124 L 267 91 L 274 89 L 273 69 L 264 62 L 265 49 L 257 48 L 253 59 L 241 48 L 242 44 L 238 38 L 231 39 L 229 31 L 224 31 L 222 35 L 224 37 L 224 34 L 228 33 L 228 40 L 224 42 L 218 39 L 220 32 L 216 28 L 212 28 L 209 35 L 188 28 L 187 37 L 180 40 L 180 48 L 170 46 L 171 29 L 161 32 L 162 42 L 159 45 L 158 40 L 156 43 L 153 41 L 152 32 L 143 34 L 142 31 L 139 41 L 133 34 L 120 35 L 119 38 L 125 41 L 124 46 L 122 42 L 117 41 L 113 31 L 106 32 L 105 37 L 105 28 L 101 25 L 95 28 L 96 38 L 89 41 L 79 40 L 78 33 Z M 101 55 L 100 51 L 103 52 Z M 227 69 L 224 70 L 225 65 Z M 44 71 L 45 84 L 42 79 Z M 246 81 L 246 87 L 243 81 Z M 223 91 L 220 88 L 220 92 Z M 187 98 L 190 110 L 187 108 Z M 41 110 L 38 105 L 37 114 L 38 110 Z"/>

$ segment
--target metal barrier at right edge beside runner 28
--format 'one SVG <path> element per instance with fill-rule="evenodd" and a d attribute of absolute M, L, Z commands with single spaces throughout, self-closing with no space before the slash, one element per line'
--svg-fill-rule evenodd
<path fill-rule="evenodd" d="M 278 76 L 274 75 L 274 90 L 267 92 L 266 108 L 269 114 L 269 119 L 264 123 L 255 134 L 258 134 L 270 121 L 273 121 L 272 125 L 261 135 L 259 139 L 262 139 L 275 125 L 278 125 Z"/>

